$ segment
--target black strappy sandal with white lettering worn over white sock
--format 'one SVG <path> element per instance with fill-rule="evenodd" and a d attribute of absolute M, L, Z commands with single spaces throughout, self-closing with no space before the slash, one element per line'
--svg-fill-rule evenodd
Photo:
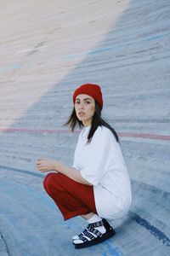
<path fill-rule="evenodd" d="M 104 226 L 105 233 L 102 234 L 99 230 L 95 229 L 96 227 Z M 95 244 L 98 244 L 102 241 L 105 241 L 112 236 L 115 236 L 116 232 L 113 230 L 111 225 L 103 218 L 101 221 L 88 224 L 88 227 L 82 231 L 79 236 L 73 236 L 72 242 L 75 245 L 75 248 L 84 248 L 91 247 Z"/>

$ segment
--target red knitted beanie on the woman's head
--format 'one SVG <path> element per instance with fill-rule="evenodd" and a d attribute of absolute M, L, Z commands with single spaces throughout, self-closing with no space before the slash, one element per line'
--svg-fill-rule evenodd
<path fill-rule="evenodd" d="M 98 84 L 82 84 L 73 94 L 73 102 L 79 94 L 87 94 L 92 96 L 96 102 L 99 103 L 101 109 L 103 108 L 103 99 L 100 87 Z"/>

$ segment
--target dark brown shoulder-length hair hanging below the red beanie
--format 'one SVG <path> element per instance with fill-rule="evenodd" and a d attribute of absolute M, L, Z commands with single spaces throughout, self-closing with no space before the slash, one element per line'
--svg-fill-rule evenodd
<path fill-rule="evenodd" d="M 71 128 L 71 131 L 74 131 L 76 125 L 79 125 L 79 127 L 82 128 L 82 126 L 83 126 L 82 121 L 80 121 L 77 118 L 77 113 L 76 113 L 75 108 L 73 108 L 71 116 L 68 119 L 68 121 L 65 123 L 65 125 L 69 125 L 69 127 Z M 101 125 L 110 129 L 111 132 L 113 133 L 113 135 L 116 137 L 117 143 L 119 143 L 119 137 L 116 134 L 116 131 L 111 127 L 111 125 L 107 124 L 104 121 L 104 119 L 101 118 L 101 107 L 99 106 L 99 103 L 95 101 L 95 112 L 94 112 L 94 116 L 92 119 L 92 125 L 91 125 L 90 131 L 88 133 L 88 143 L 90 143 L 90 141 L 92 140 L 92 138 L 94 136 L 94 132 L 97 130 L 98 126 L 101 126 Z"/>

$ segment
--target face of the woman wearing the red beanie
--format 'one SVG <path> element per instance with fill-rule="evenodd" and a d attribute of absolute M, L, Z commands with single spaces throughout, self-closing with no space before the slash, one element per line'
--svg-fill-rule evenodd
<path fill-rule="evenodd" d="M 87 94 L 78 95 L 75 101 L 75 110 L 77 118 L 82 121 L 85 127 L 91 125 L 95 111 L 94 98 Z"/>

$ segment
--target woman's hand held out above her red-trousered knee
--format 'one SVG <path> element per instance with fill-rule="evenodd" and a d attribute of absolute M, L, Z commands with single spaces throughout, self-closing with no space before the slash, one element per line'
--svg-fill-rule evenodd
<path fill-rule="evenodd" d="M 48 158 L 39 158 L 36 162 L 37 169 L 40 172 L 50 172 L 55 171 L 56 161 Z"/>

